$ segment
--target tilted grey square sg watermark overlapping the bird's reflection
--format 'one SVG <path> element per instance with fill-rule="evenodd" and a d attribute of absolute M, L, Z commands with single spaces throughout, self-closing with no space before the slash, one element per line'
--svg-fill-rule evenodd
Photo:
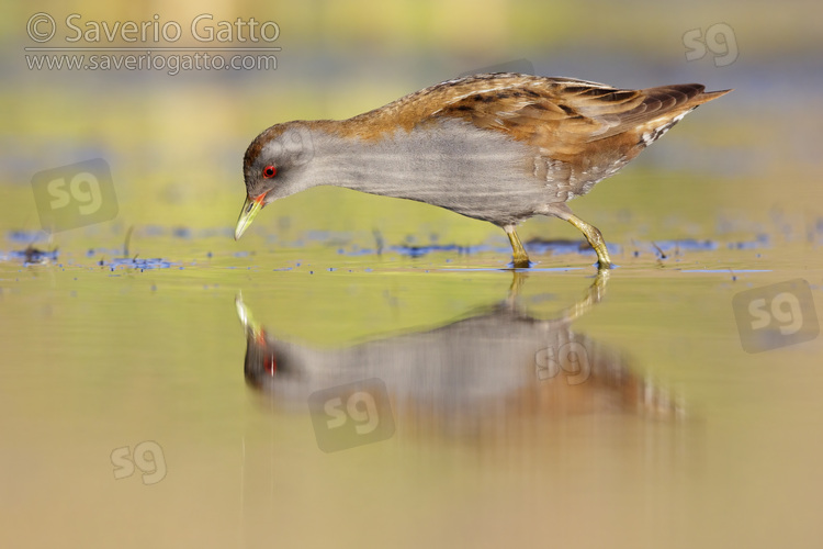
<path fill-rule="evenodd" d="M 317 446 L 332 452 L 394 435 L 386 384 L 376 378 L 317 391 L 308 396 Z"/>

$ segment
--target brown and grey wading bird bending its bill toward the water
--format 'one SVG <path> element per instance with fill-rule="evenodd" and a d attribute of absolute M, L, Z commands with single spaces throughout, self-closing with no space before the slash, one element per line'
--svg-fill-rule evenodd
<path fill-rule="evenodd" d="M 511 266 L 530 261 L 517 225 L 554 216 L 613 267 L 600 231 L 567 202 L 589 192 L 698 105 L 732 90 L 685 83 L 619 89 L 574 78 L 493 72 L 448 80 L 347 120 L 296 120 L 244 156 L 240 238 L 263 206 L 316 186 L 437 205 L 501 227 Z"/>

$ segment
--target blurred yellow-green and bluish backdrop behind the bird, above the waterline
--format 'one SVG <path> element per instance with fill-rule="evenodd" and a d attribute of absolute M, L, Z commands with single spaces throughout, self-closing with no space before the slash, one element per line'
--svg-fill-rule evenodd
<path fill-rule="evenodd" d="M 583 8 L 575 2 L 504 0 L 139 8 L 43 2 L 36 9 L 10 4 L 3 10 L 0 184 L 9 199 L 0 213 L 9 228 L 40 228 L 30 200 L 35 172 L 95 157 L 112 169 L 120 205 L 114 224 L 121 234 L 122 227 L 147 224 L 228 227 L 244 199 L 243 153 L 263 128 L 295 119 L 349 117 L 456 75 L 519 59 L 529 61 L 538 75 L 617 87 L 697 81 L 709 90 L 735 88 L 722 102 L 690 114 L 663 145 L 644 153 L 631 173 L 619 175 L 575 204 L 584 219 L 601 203 L 611 211 L 641 203 L 657 204 L 667 214 L 677 205 L 675 215 L 698 225 L 713 225 L 719 212 L 733 213 L 739 222 L 767 221 L 763 212 L 802 210 L 809 193 L 816 192 L 820 157 L 813 144 L 821 138 L 821 125 L 808 113 L 820 105 L 823 71 L 815 26 L 820 9 L 811 1 L 785 2 L 779 10 L 768 2 L 743 1 L 594 2 Z M 55 36 L 46 43 L 26 34 L 29 19 L 38 11 L 56 22 Z M 78 33 L 66 24 L 72 13 L 80 16 L 71 23 L 83 33 L 104 22 L 156 24 L 145 45 L 119 37 L 110 43 L 102 30 L 100 42 L 88 42 L 83 34 L 69 43 L 66 38 Z M 238 31 L 235 25 L 233 42 L 198 42 L 191 23 L 202 14 L 213 18 L 198 24 L 201 36 L 207 36 L 210 27 L 216 36 L 221 22 L 234 24 L 238 18 L 275 22 L 279 35 L 270 43 L 241 43 L 237 35 L 247 36 L 249 29 Z M 170 22 L 182 30 L 180 40 L 168 43 L 160 35 L 159 44 L 154 43 L 150 33 Z M 47 23 L 38 29 L 45 32 Z M 273 29 L 267 27 L 269 36 Z M 46 53 L 25 47 L 72 45 L 135 48 L 110 55 L 143 55 L 158 45 L 281 49 L 275 53 L 277 69 L 192 69 L 170 76 L 162 66 L 29 68 Z M 151 56 L 194 53 L 161 53 L 155 47 Z M 223 55 L 228 63 L 227 53 Z M 665 180 L 678 171 L 691 172 L 694 181 L 686 192 Z M 706 175 L 718 173 L 729 176 L 730 182 L 703 184 Z M 676 199 L 668 202 L 668 197 Z M 743 205 L 743 199 L 752 206 Z M 345 212 L 332 214 L 339 209 Z M 271 232 L 278 226 L 297 233 L 309 227 L 348 231 L 371 240 L 372 229 L 379 228 L 390 239 L 402 239 L 419 233 L 408 217 L 419 219 L 428 232 L 447 240 L 476 244 L 500 236 L 493 226 L 449 212 L 324 188 L 268 209 L 252 229 L 267 231 L 262 225 L 268 225 Z M 655 226 L 653 215 L 644 221 L 654 224 L 650 228 L 665 228 Z M 562 225 L 534 220 L 523 227 L 523 236 L 574 234 Z M 609 227 L 612 238 L 620 238 L 620 231 Z M 673 236 L 677 235 L 659 237 Z"/>

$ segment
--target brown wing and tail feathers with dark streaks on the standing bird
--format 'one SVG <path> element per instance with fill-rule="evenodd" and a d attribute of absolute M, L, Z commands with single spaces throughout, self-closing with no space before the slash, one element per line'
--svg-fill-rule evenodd
<path fill-rule="evenodd" d="M 429 117 L 461 117 L 565 160 L 616 136 L 624 137 L 619 141 L 625 142 L 625 147 L 638 145 L 642 149 L 679 115 L 725 93 L 703 93 L 703 89 L 688 83 L 621 90 L 574 79 L 488 75 L 451 85 L 452 97 L 441 98 L 444 101 Z"/>

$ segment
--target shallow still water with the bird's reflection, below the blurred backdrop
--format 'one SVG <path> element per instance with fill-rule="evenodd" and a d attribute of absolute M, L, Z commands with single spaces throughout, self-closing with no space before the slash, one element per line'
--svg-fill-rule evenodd
<path fill-rule="evenodd" d="M 168 251 L 142 262 L 70 239 L 0 262 L 3 520 L 27 544 L 820 539 L 821 339 L 807 318 L 810 340 L 745 352 L 733 309 L 797 278 L 823 299 L 820 265 L 781 259 L 816 236 L 635 242 L 596 277 L 566 243 L 516 273 L 496 240 L 213 233 L 138 229 L 132 256 Z"/>

